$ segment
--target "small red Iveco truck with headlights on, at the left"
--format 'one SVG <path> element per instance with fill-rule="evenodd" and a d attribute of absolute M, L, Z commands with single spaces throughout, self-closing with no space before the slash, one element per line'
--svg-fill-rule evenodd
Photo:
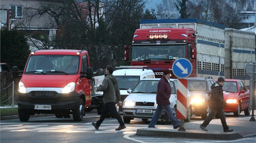
<path fill-rule="evenodd" d="M 13 78 L 19 76 L 13 67 Z M 93 68 L 86 50 L 37 50 L 30 53 L 19 82 L 18 114 L 55 114 L 81 121 L 91 105 Z"/>

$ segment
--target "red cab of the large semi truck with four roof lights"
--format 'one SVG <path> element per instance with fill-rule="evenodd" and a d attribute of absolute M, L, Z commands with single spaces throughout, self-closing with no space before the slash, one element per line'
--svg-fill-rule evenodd
<path fill-rule="evenodd" d="M 132 40 L 131 65 L 147 65 L 156 78 L 163 76 L 166 69 L 172 70 L 174 61 L 186 58 L 193 67 L 196 58 L 195 32 L 192 28 L 156 27 L 137 29 Z M 125 59 L 128 61 L 129 46 L 125 46 Z M 196 68 L 193 69 L 196 73 Z M 196 76 L 191 75 L 191 76 Z M 176 78 L 172 74 L 172 78 Z"/>

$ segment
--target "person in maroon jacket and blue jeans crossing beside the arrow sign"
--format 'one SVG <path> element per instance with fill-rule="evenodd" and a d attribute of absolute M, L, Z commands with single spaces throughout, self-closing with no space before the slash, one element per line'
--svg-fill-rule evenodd
<path fill-rule="evenodd" d="M 174 126 L 174 129 L 180 127 L 180 121 L 174 116 L 173 111 L 171 109 L 171 103 L 169 98 L 171 97 L 171 86 L 170 86 L 170 78 L 171 78 L 171 71 L 165 70 L 163 72 L 162 78 L 159 80 L 157 85 L 157 92 L 156 92 L 156 112 L 154 113 L 150 124 L 148 125 L 149 128 L 155 128 L 157 121 L 159 120 L 163 110 L 167 113 L 169 119 L 171 120 L 171 124 Z"/>

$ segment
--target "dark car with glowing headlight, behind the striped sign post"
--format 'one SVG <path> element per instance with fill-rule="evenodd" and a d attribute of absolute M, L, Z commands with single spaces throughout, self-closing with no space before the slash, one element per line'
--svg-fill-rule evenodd
<path fill-rule="evenodd" d="M 186 79 L 188 80 L 187 88 L 191 94 L 192 114 L 206 119 L 209 113 L 210 86 L 215 83 L 215 80 L 212 77 Z"/>

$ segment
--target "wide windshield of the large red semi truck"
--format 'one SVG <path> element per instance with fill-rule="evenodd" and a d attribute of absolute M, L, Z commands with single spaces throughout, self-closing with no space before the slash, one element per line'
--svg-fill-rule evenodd
<path fill-rule="evenodd" d="M 186 45 L 134 45 L 132 61 L 186 58 Z"/>

